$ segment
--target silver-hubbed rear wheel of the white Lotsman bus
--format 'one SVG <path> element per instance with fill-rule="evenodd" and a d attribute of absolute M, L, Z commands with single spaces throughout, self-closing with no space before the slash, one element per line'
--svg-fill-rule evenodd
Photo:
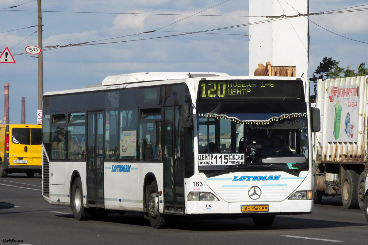
<path fill-rule="evenodd" d="M 73 211 L 76 220 L 84 220 L 87 216 L 86 210 L 83 207 L 83 192 L 81 178 L 74 180 L 71 189 L 71 210 Z"/>

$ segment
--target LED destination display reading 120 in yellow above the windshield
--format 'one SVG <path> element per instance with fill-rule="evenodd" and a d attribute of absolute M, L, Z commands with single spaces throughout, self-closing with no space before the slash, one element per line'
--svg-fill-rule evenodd
<path fill-rule="evenodd" d="M 301 80 L 201 80 L 198 90 L 201 101 L 299 100 L 304 93 Z"/>

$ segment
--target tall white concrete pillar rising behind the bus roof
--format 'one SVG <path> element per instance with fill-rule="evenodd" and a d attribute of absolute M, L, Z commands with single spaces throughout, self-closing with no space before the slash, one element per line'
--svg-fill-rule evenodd
<path fill-rule="evenodd" d="M 308 0 L 250 0 L 249 75 L 258 64 L 296 67 L 296 77 L 308 80 L 308 16 L 282 17 L 309 13 Z M 257 17 L 254 17 L 257 16 Z M 262 17 L 261 17 L 262 16 Z"/>

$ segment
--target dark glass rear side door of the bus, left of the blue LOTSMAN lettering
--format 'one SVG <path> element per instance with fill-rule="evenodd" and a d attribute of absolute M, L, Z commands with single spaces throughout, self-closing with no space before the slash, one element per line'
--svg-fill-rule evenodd
<path fill-rule="evenodd" d="M 104 206 L 103 142 L 103 111 L 88 112 L 86 149 L 89 205 Z"/>

